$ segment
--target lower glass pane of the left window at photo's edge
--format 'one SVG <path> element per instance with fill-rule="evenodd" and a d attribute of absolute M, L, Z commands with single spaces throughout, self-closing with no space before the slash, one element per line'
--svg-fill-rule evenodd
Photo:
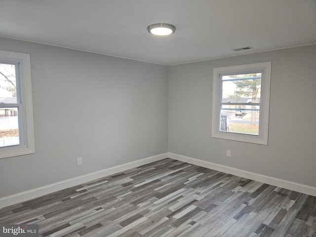
<path fill-rule="evenodd" d="M 19 144 L 18 108 L 0 108 L 0 147 Z"/>

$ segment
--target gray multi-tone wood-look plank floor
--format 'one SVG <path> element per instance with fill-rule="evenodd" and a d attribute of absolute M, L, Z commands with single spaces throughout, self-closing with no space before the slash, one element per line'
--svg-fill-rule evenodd
<path fill-rule="evenodd" d="M 49 237 L 315 237 L 316 197 L 173 159 L 0 209 Z"/>

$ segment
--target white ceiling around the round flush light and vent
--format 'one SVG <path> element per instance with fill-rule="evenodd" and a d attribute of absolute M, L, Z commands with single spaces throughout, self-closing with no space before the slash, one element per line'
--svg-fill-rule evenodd
<path fill-rule="evenodd" d="M 0 36 L 174 65 L 316 43 L 316 0 L 0 0 Z"/>

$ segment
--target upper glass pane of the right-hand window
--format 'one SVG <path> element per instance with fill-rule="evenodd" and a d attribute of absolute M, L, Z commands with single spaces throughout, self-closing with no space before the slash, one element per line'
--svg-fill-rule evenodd
<path fill-rule="evenodd" d="M 261 73 L 228 75 L 222 77 L 223 103 L 259 103 Z"/>

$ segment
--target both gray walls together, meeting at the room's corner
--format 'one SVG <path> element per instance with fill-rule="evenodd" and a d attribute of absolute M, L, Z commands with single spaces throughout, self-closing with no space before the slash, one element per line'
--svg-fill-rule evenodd
<path fill-rule="evenodd" d="M 36 146 L 0 159 L 0 197 L 167 151 L 316 187 L 316 45 L 170 67 L 4 38 L 0 50 L 31 55 Z M 269 145 L 211 138 L 213 68 L 267 61 Z"/>

